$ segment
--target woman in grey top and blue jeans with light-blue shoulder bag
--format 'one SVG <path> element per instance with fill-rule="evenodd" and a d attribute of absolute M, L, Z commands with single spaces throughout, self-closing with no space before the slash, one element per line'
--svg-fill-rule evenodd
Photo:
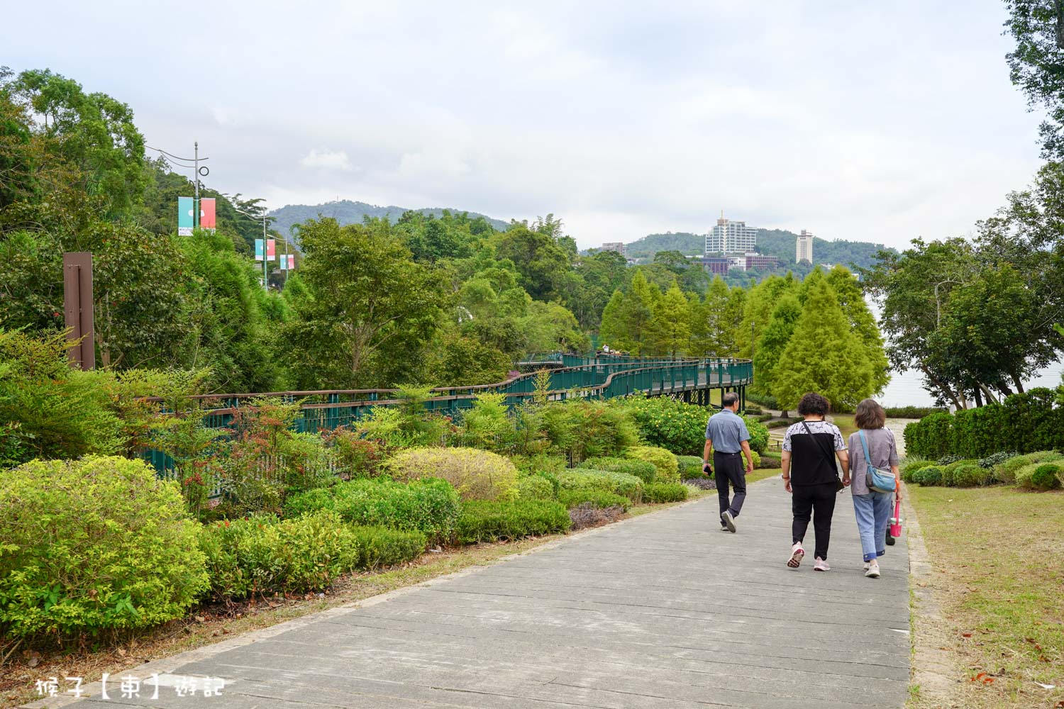
<path fill-rule="evenodd" d="M 868 489 L 865 479 L 864 446 L 861 434 L 850 435 L 850 495 L 853 499 L 853 513 L 858 518 L 861 531 L 861 550 L 864 552 L 865 576 L 879 578 L 879 557 L 885 553 L 886 523 L 894 508 L 894 501 L 901 500 L 901 477 L 898 473 L 898 448 L 894 433 L 884 428 L 886 412 L 871 399 L 858 404 L 853 422 L 864 433 L 868 445 L 868 457 L 872 467 L 891 469 L 894 473 L 894 492 L 876 492 Z"/>

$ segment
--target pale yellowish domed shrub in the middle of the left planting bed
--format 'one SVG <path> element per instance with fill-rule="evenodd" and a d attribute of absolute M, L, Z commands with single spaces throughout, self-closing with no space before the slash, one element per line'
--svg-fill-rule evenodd
<path fill-rule="evenodd" d="M 477 449 L 411 449 L 385 463 L 397 480 L 438 477 L 462 500 L 504 502 L 517 499 L 517 468 L 506 458 Z"/>

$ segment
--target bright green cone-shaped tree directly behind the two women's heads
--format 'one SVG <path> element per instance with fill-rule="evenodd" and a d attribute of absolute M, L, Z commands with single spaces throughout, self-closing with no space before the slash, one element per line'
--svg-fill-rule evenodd
<path fill-rule="evenodd" d="M 794 408 L 809 391 L 826 396 L 835 410 L 853 410 L 871 395 L 871 367 L 826 280 L 807 292 L 771 382 L 783 408 Z"/>

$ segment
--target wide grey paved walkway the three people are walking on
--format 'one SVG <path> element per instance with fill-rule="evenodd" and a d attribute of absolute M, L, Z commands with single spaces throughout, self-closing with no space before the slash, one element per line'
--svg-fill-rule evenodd
<path fill-rule="evenodd" d="M 73 706 L 900 708 L 904 539 L 883 577 L 865 578 L 847 491 L 832 571 L 791 570 L 778 478 L 750 486 L 735 535 L 717 530 L 716 506 L 713 495 L 169 658 L 157 699 L 122 699 L 113 677 L 110 703 Z M 805 541 L 812 553 L 812 525 Z M 223 677 L 222 696 L 179 697 L 182 676 Z"/>

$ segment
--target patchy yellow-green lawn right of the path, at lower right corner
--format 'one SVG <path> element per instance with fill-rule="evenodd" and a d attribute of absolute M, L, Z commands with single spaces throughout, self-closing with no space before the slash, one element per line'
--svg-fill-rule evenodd
<path fill-rule="evenodd" d="M 907 706 L 1064 707 L 1064 492 L 907 490 L 928 567 L 914 555 Z"/>

